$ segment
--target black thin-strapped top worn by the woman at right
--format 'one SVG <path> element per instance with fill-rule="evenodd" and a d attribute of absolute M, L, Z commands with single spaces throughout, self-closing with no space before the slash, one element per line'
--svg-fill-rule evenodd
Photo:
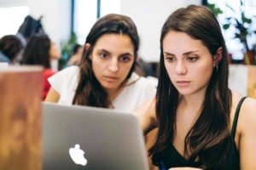
<path fill-rule="evenodd" d="M 228 154 L 228 160 L 227 163 L 224 165 L 225 170 L 239 170 L 240 169 L 240 159 L 239 159 L 239 153 L 236 149 L 236 143 L 235 143 L 235 136 L 236 136 L 236 125 L 237 120 L 241 108 L 241 104 L 246 99 L 246 97 L 241 98 L 239 101 L 237 107 L 236 107 L 236 113 L 234 117 L 234 122 L 232 125 L 231 133 L 230 133 L 230 139 L 231 139 L 231 148 L 230 152 Z M 160 167 L 160 170 L 167 170 L 171 167 L 200 167 L 201 164 L 199 162 L 186 160 L 183 156 L 179 154 L 179 152 L 176 150 L 176 148 L 170 144 L 170 147 L 164 151 L 165 153 L 161 153 L 160 157 L 158 157 L 158 160 L 156 161 L 157 166 Z"/>

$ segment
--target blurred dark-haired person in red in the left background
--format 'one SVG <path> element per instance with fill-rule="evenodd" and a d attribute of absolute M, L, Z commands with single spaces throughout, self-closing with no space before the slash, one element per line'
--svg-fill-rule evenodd
<path fill-rule="evenodd" d="M 58 48 L 56 48 L 55 43 L 52 42 L 46 34 L 36 34 L 28 39 L 21 64 L 44 66 L 43 100 L 48 94 L 50 88 L 47 79 L 55 74 L 55 71 L 51 69 L 50 63 L 52 60 L 60 58 L 60 51 Z"/>

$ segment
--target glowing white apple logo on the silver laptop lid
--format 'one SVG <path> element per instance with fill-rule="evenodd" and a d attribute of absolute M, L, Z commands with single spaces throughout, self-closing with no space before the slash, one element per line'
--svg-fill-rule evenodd
<path fill-rule="evenodd" d="M 85 166 L 87 163 L 87 160 L 84 158 L 84 150 L 80 149 L 79 144 L 75 144 L 74 147 L 69 149 L 69 156 L 78 165 Z"/>

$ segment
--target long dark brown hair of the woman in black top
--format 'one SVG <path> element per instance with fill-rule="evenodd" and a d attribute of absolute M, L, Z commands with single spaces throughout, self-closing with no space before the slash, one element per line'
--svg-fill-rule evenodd
<path fill-rule="evenodd" d="M 223 165 L 230 148 L 230 105 L 231 92 L 228 88 L 229 64 L 224 37 L 218 20 L 205 7 L 189 5 L 179 8 L 166 20 L 160 36 L 160 74 L 156 93 L 156 116 L 159 132 L 154 146 L 149 150 L 153 162 L 165 153 L 173 143 L 176 131 L 178 92 L 168 77 L 164 64 L 163 39 L 169 31 L 181 31 L 201 40 L 212 57 L 222 48 L 222 59 L 218 69 L 214 68 L 207 87 L 201 115 L 191 127 L 184 141 L 184 154 L 190 161 L 199 158 L 202 168 Z M 188 151 L 189 150 L 189 151 Z"/>

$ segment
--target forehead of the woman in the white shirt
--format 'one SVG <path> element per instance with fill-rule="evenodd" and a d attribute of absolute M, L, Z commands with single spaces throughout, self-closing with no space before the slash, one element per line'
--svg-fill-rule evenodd
<path fill-rule="evenodd" d="M 104 34 L 97 39 L 95 49 L 133 53 L 134 46 L 131 38 L 125 34 Z"/>

